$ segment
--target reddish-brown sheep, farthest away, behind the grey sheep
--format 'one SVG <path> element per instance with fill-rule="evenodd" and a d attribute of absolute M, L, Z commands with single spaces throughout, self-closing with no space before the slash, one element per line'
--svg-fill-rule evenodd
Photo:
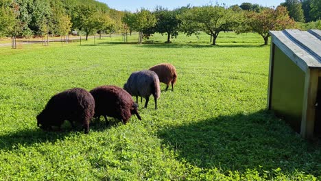
<path fill-rule="evenodd" d="M 174 65 L 168 63 L 156 64 L 154 67 L 150 68 L 150 71 L 154 71 L 158 75 L 159 81 L 167 85 L 166 90 L 171 83 L 171 90 L 174 91 L 174 84 L 176 83 L 177 78 Z"/>

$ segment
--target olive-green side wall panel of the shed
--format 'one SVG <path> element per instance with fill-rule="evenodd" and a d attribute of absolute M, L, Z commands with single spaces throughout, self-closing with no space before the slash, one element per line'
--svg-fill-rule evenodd
<path fill-rule="evenodd" d="M 271 109 L 300 132 L 305 73 L 275 46 Z"/>

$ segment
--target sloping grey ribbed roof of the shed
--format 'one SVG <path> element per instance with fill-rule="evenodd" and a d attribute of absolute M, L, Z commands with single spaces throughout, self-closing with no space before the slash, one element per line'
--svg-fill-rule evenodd
<path fill-rule="evenodd" d="M 321 30 L 298 29 L 270 31 L 273 43 L 303 71 L 321 69 Z"/>

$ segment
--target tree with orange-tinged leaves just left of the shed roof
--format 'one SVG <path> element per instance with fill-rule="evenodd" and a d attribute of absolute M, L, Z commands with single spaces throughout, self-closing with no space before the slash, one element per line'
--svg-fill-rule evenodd
<path fill-rule="evenodd" d="M 246 14 L 246 27 L 251 27 L 251 31 L 257 32 L 264 39 L 264 45 L 268 45 L 270 30 L 283 30 L 293 28 L 295 22 L 287 14 L 287 8 L 280 5 L 276 10 L 265 9 L 262 12 L 248 12 Z M 248 32 L 249 29 L 239 29 L 237 33 Z"/>

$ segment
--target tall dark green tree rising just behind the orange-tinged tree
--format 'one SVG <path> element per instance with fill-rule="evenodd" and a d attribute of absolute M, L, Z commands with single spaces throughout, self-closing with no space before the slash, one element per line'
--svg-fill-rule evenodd
<path fill-rule="evenodd" d="M 285 3 L 281 5 L 287 7 L 289 16 L 296 22 L 305 22 L 305 16 L 303 15 L 302 3 L 298 0 L 285 0 Z"/>

